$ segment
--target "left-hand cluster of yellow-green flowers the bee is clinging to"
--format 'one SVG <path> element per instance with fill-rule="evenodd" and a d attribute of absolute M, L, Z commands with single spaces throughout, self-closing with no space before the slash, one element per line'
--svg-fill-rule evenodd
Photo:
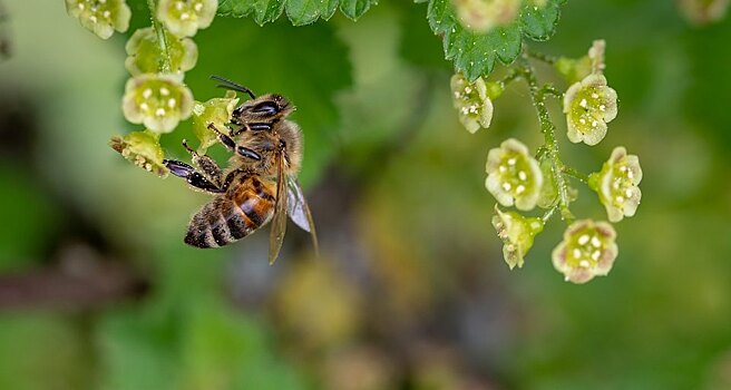
<path fill-rule="evenodd" d="M 110 146 L 136 165 L 165 175 L 167 169 L 162 165 L 164 155 L 159 135 L 173 131 L 181 120 L 194 114 L 195 108 L 194 127 L 202 140 L 201 149 L 205 149 L 215 142 L 215 135 L 202 121 L 214 121 L 223 127 L 238 100 L 233 94 L 215 101 L 195 103 L 183 81 L 185 72 L 193 69 L 198 58 L 198 49 L 188 37 L 211 25 L 217 0 L 159 0 L 149 1 L 148 6 L 154 16 L 153 26 L 135 31 L 125 47 L 125 67 L 131 78 L 121 99 L 125 118 L 144 125 L 146 129 L 114 137 Z M 127 29 L 129 8 L 123 0 L 67 0 L 67 7 L 69 13 L 79 17 L 82 23 L 96 14 L 82 13 L 86 10 L 124 19 L 124 26 L 117 29 Z M 111 30 L 103 38 L 109 35 Z"/>

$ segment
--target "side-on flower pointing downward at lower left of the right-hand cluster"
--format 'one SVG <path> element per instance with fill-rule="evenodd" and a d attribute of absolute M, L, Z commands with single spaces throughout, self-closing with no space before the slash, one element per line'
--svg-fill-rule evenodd
<path fill-rule="evenodd" d="M 543 231 L 543 220 L 525 217 L 516 212 L 501 212 L 495 205 L 493 226 L 503 240 L 503 257 L 510 270 L 523 266 L 523 257 L 533 246 L 533 238 Z"/>

